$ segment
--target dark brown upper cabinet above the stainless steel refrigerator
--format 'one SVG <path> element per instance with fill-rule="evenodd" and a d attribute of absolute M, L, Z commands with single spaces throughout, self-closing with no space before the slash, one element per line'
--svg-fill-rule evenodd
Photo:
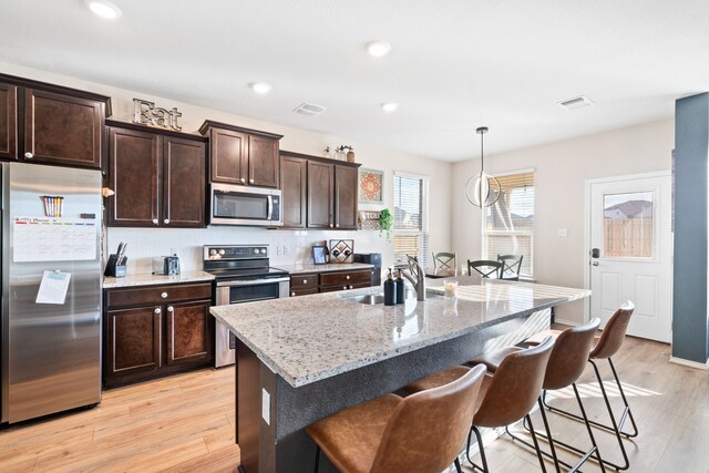
<path fill-rule="evenodd" d="M 104 95 L 0 74 L 0 157 L 101 168 Z"/>

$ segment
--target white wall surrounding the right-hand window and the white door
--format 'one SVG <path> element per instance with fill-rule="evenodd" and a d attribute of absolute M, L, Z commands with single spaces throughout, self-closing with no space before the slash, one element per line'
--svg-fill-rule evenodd
<path fill-rule="evenodd" d="M 485 156 L 485 172 L 535 169 L 534 277 L 537 282 L 583 287 L 585 181 L 667 171 L 671 167 L 674 120 L 576 140 Z M 493 140 L 491 136 L 486 140 Z M 455 163 L 452 206 L 453 248 L 461 261 L 481 256 L 481 210 L 467 203 L 464 186 L 480 172 L 480 160 Z M 568 237 L 558 237 L 558 229 Z M 583 302 L 559 308 L 557 318 L 583 321 Z"/>

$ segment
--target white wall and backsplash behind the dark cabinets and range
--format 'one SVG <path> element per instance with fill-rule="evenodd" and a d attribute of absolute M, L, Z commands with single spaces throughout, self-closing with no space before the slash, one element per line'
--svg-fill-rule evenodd
<path fill-rule="evenodd" d="M 172 109 L 176 106 L 183 116 L 181 124 L 183 132 L 197 133 L 205 120 L 229 123 L 254 130 L 282 134 L 280 148 L 319 156 L 327 146 L 348 144 L 354 148 L 356 161 L 363 167 L 382 169 L 384 176 L 384 205 L 393 210 L 393 172 L 405 171 L 430 177 L 430 241 L 431 248 L 443 250 L 451 248 L 451 167 L 450 163 L 435 161 L 424 156 L 417 156 L 381 146 L 359 143 L 347 136 L 333 136 L 308 132 L 276 123 L 263 122 L 224 111 L 205 109 L 187 104 L 174 99 L 160 97 L 148 93 L 127 91 L 110 85 L 53 74 L 47 71 L 24 68 L 17 64 L 0 62 L 0 72 L 40 80 L 44 82 L 66 85 L 75 89 L 110 95 L 112 97 L 112 120 L 131 122 L 133 120 L 133 99 L 155 102 L 156 106 Z M 135 72 L 137 74 L 138 72 Z M 254 96 L 254 100 L 263 97 Z M 327 113 L 327 112 L 326 112 Z M 317 117 L 307 119 L 317 127 Z M 380 209 L 376 206 L 361 206 L 360 209 Z M 316 232 L 308 230 L 305 235 L 294 230 L 267 230 L 246 227 L 209 227 L 206 229 L 107 229 L 107 248 L 115 251 L 119 241 L 129 241 L 129 271 L 150 273 L 153 256 L 167 255 L 171 248 L 177 250 L 182 258 L 183 270 L 202 268 L 202 245 L 205 244 L 236 244 L 266 243 L 271 245 L 271 263 L 274 265 L 294 264 L 310 259 L 310 246 L 321 240 L 335 238 L 354 239 L 357 253 L 382 253 L 383 265 L 393 264 L 393 245 L 379 237 L 377 232 Z M 284 247 L 286 254 L 284 255 Z"/>

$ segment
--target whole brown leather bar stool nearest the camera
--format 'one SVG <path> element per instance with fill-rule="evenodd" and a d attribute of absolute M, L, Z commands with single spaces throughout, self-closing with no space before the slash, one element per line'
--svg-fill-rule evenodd
<path fill-rule="evenodd" d="M 465 442 L 485 369 L 465 369 L 461 377 L 407 398 L 384 394 L 345 409 L 307 428 L 340 472 L 440 472 Z"/>

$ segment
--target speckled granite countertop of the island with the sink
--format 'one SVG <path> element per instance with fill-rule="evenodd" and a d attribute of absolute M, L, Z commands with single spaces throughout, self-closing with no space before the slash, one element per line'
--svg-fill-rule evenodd
<path fill-rule="evenodd" d="M 297 388 L 590 295 L 471 276 L 451 279 L 460 285 L 455 299 L 442 297 L 444 280 L 438 279 L 429 284 L 428 300 L 399 306 L 348 299 L 381 290 L 367 288 L 218 306 L 210 312 Z"/>

